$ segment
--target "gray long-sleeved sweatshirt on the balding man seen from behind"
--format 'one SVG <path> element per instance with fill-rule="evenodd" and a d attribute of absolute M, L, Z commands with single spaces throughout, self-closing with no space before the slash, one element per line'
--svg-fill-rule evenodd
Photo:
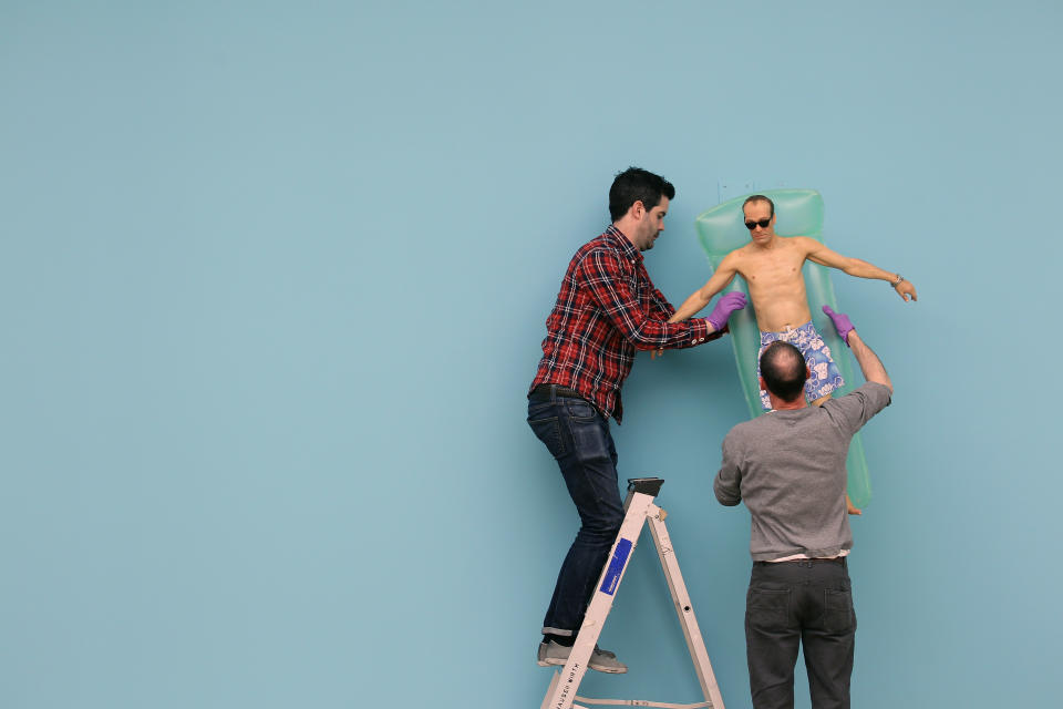
<path fill-rule="evenodd" d="M 868 382 L 822 407 L 771 411 L 731 429 L 713 491 L 721 504 L 745 502 L 754 561 L 853 547 L 845 458 L 853 435 L 889 402 L 889 388 Z"/>

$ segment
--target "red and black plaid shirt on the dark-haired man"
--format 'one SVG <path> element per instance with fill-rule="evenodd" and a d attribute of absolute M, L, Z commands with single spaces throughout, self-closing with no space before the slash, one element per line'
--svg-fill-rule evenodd
<path fill-rule="evenodd" d="M 710 333 L 704 318 L 668 322 L 674 312 L 653 287 L 642 254 L 610 225 L 568 265 L 529 391 L 541 383 L 567 387 L 619 423 L 620 387 L 636 350 L 693 347 L 722 335 Z"/>

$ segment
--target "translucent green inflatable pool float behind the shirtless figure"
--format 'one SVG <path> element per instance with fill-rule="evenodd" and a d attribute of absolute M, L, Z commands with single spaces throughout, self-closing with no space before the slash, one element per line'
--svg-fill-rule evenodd
<path fill-rule="evenodd" d="M 775 233 L 780 236 L 808 236 L 821 244 L 823 242 L 823 197 L 814 189 L 768 189 L 760 192 L 775 203 Z M 745 246 L 750 242 L 750 232 L 745 228 L 742 214 L 742 203 L 750 195 L 729 199 L 723 204 L 703 213 L 694 222 L 698 228 L 698 238 L 702 248 L 709 255 L 709 263 L 713 270 L 720 266 L 723 257 L 734 249 Z M 808 310 L 812 311 L 812 321 L 823 336 L 845 386 L 836 392 L 840 395 L 853 391 L 857 379 L 853 368 L 853 360 L 848 356 L 848 346 L 842 341 L 830 320 L 823 314 L 823 306 L 830 306 L 842 311 L 834 297 L 834 287 L 830 285 L 830 274 L 826 266 L 805 261 L 803 269 L 805 290 L 808 295 Z M 735 276 L 734 280 L 722 292 L 744 292 L 749 298 L 745 279 Z M 752 306 L 736 310 L 729 320 L 731 326 L 731 342 L 734 346 L 734 359 L 739 366 L 739 377 L 742 379 L 742 390 L 745 402 L 750 407 L 751 418 L 764 413 L 761 407 L 761 387 L 756 379 L 756 354 L 761 348 L 761 331 L 756 327 L 756 317 Z M 859 380 L 863 383 L 863 379 Z M 848 493 L 853 504 L 864 507 L 871 499 L 871 483 L 867 474 L 867 461 L 864 458 L 864 442 L 860 434 L 853 436 L 849 444 L 849 454 L 846 459 L 848 469 Z"/>

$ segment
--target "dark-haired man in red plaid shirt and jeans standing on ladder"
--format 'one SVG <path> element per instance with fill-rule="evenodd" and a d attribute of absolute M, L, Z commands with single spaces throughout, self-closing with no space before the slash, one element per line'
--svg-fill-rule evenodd
<path fill-rule="evenodd" d="M 617 450 L 609 418 L 620 423 L 620 387 L 636 350 L 679 349 L 719 339 L 741 292 L 720 299 L 708 318 L 668 322 L 675 308 L 653 287 L 641 251 L 653 248 L 675 188 L 630 167 L 609 189 L 612 224 L 572 256 L 546 320 L 543 359 L 528 390 L 528 425 L 557 460 L 581 526 L 561 565 L 543 621 L 541 666 L 564 665 L 623 521 Z M 626 672 L 595 648 L 588 665 Z"/>

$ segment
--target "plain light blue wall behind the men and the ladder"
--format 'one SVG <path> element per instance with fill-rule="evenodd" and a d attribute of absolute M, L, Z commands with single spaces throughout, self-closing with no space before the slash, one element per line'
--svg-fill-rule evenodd
<path fill-rule="evenodd" d="M 663 4 L 663 3 L 662 3 Z M 1057 699 L 1051 2 L 0 6 L 0 705 L 537 707 L 576 531 L 524 423 L 612 175 L 819 189 L 894 405 L 855 522 L 859 707 Z M 727 707 L 747 707 L 730 346 L 639 358 Z M 699 699 L 643 538 L 591 696 Z M 807 706 L 803 689 L 801 706 Z"/>

